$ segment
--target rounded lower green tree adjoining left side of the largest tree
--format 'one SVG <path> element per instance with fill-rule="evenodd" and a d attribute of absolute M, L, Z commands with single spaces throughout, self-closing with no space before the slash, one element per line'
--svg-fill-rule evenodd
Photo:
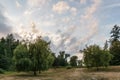
<path fill-rule="evenodd" d="M 30 71 L 32 61 L 25 44 L 19 44 L 14 50 L 14 63 L 17 71 Z"/>

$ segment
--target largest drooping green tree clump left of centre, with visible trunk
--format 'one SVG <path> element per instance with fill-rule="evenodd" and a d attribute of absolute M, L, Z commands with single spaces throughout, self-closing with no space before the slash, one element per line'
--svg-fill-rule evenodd
<path fill-rule="evenodd" d="M 14 50 L 14 61 L 18 71 L 33 71 L 34 75 L 49 69 L 54 61 L 50 43 L 38 37 L 34 42 L 19 45 Z"/>

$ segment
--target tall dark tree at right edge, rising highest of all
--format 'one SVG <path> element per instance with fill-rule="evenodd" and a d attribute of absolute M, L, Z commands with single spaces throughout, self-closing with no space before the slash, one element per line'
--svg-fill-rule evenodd
<path fill-rule="evenodd" d="M 110 65 L 120 65 L 120 27 L 115 25 L 111 32 L 110 53 L 113 55 Z"/>

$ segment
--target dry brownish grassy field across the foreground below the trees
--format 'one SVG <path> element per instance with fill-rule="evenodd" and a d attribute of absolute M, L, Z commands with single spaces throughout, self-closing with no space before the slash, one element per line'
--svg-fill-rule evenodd
<path fill-rule="evenodd" d="M 0 80 L 120 80 L 120 67 L 109 67 L 103 71 L 88 71 L 85 68 L 50 69 L 38 76 L 32 73 L 7 72 Z"/>

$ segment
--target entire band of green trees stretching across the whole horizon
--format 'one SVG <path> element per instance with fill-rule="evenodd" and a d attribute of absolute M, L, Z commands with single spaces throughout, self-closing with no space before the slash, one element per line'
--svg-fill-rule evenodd
<path fill-rule="evenodd" d="M 0 39 L 0 73 L 32 71 L 37 75 L 49 68 L 84 66 L 99 70 L 100 67 L 120 65 L 120 27 L 115 25 L 110 34 L 111 37 L 106 40 L 103 48 L 94 44 L 80 50 L 83 53 L 82 60 L 78 60 L 77 56 L 70 57 L 65 51 L 60 51 L 56 56 L 50 49 L 50 42 L 41 37 L 34 41 L 20 41 L 16 40 L 13 34 L 8 34 Z"/>

